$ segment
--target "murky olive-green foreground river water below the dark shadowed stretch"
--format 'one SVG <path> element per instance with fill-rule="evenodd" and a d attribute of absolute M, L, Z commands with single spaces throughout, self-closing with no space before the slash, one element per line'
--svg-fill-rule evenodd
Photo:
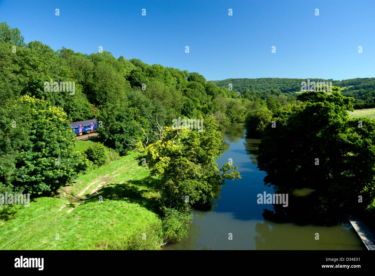
<path fill-rule="evenodd" d="M 233 240 L 228 239 L 229 233 L 233 234 Z M 319 240 L 315 240 L 315 233 L 319 233 Z M 163 249 L 360 250 L 363 245 L 348 224 L 298 226 L 269 220 L 237 220 L 231 213 L 212 212 L 202 217 L 199 211 L 194 211 L 189 237 Z"/>

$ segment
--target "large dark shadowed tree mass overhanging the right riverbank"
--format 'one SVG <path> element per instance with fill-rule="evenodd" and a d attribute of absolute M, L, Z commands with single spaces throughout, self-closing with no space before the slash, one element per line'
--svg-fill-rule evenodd
<path fill-rule="evenodd" d="M 276 128 L 264 129 L 258 166 L 267 172 L 265 183 L 279 187 L 311 187 L 328 202 L 342 206 L 351 195 L 374 196 L 374 122 L 349 119 L 353 98 L 333 87 L 305 92 L 301 106 L 275 114 Z M 358 166 L 358 164 L 363 164 Z"/>

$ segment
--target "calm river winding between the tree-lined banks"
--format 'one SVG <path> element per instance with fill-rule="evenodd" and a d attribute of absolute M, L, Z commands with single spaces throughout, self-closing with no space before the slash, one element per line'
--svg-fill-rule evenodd
<path fill-rule="evenodd" d="M 257 194 L 274 193 L 263 183 L 265 172 L 257 168 L 259 139 L 245 138 L 242 125 L 234 124 L 223 132 L 228 150 L 217 160 L 218 168 L 231 158 L 242 177 L 227 180 L 211 211 L 192 209 L 189 236 L 163 250 L 198 249 L 365 249 L 349 223 L 334 226 L 275 223 L 263 217 L 271 204 L 258 204 Z M 316 239 L 319 234 L 319 239 Z M 230 239 L 230 237 L 232 239 Z"/>

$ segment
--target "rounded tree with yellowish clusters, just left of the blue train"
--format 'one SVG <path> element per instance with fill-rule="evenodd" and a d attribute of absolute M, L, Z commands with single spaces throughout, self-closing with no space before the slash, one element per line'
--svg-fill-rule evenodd
<path fill-rule="evenodd" d="M 7 108 L 14 111 L 18 105 L 24 116 L 17 120 L 21 120 L 20 126 L 26 129 L 28 137 L 12 145 L 19 147 L 14 159 L 15 169 L 5 178 L 12 180 L 13 190 L 30 194 L 55 191 L 86 170 L 86 156 L 75 150 L 77 138 L 62 108 L 27 95 Z M 28 120 L 28 124 L 22 120 Z"/>

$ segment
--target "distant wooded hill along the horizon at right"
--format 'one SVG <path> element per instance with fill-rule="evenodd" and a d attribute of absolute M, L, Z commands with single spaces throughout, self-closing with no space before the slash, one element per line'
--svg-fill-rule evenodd
<path fill-rule="evenodd" d="M 355 108 L 373 108 L 375 107 L 375 77 L 357 78 L 348 80 L 333 79 L 310 79 L 310 82 L 332 82 L 333 86 L 341 88 L 342 95 L 356 99 Z M 269 89 L 279 89 L 282 93 L 288 93 L 296 96 L 296 92 L 301 91 L 301 82 L 307 82 L 307 79 L 285 79 L 285 78 L 260 78 L 260 79 L 226 79 L 213 80 L 219 87 L 228 87 L 233 85 L 233 90 L 244 93 L 245 89 L 264 94 Z"/>

